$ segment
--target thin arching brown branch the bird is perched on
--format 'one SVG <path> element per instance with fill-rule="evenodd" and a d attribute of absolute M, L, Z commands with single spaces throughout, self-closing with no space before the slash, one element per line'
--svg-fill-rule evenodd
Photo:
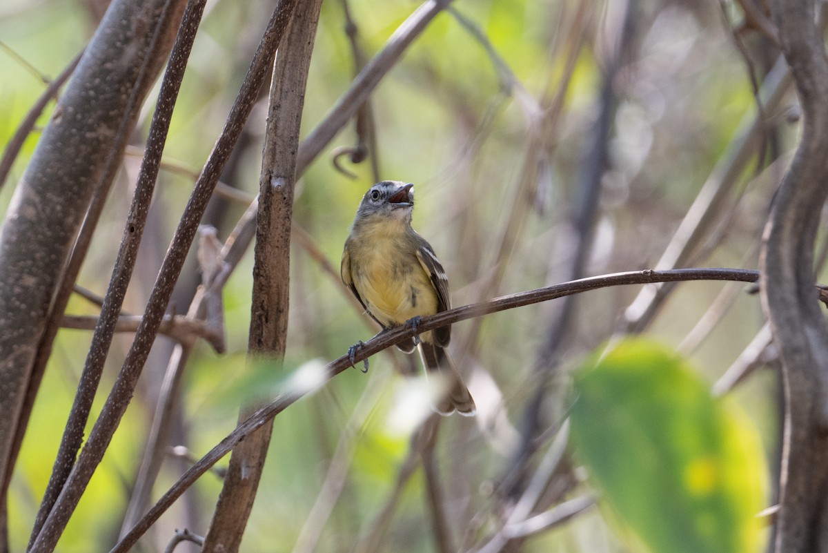
<path fill-rule="evenodd" d="M 750 271 L 749 269 L 675 269 L 672 271 L 636 271 L 636 272 L 619 272 L 604 276 L 591 276 L 583 278 L 578 281 L 564 282 L 554 286 L 546 286 L 537 288 L 536 290 L 520 292 L 510 296 L 502 296 L 490 301 L 484 301 L 472 305 L 463 305 L 452 310 L 443 311 L 431 317 L 425 317 L 417 325 L 417 332 L 426 332 L 439 328 L 440 326 L 450 325 L 460 320 L 468 320 L 474 317 L 488 315 L 498 311 L 514 309 L 522 307 L 523 305 L 532 305 L 541 301 L 550 301 L 562 296 L 569 296 L 571 294 L 578 294 L 585 291 L 597 290 L 609 286 L 622 286 L 633 284 L 654 284 L 657 282 L 667 281 L 743 281 L 755 282 L 758 280 L 758 271 Z M 402 343 L 407 339 L 414 337 L 414 330 L 411 327 L 401 326 L 395 329 L 390 329 L 388 332 L 378 334 L 373 339 L 365 342 L 362 347 L 356 350 L 354 355 L 354 363 L 359 363 L 363 359 L 367 359 L 371 355 L 379 353 L 383 349 L 388 349 L 395 344 Z M 258 430 L 267 421 L 272 420 L 273 417 L 284 411 L 288 406 L 304 397 L 310 392 L 315 392 L 320 387 L 325 385 L 330 378 L 335 377 L 339 373 L 343 373 L 350 368 L 351 361 L 349 355 L 346 353 L 342 357 L 336 358 L 325 365 L 324 371 L 320 374 L 314 374 L 311 378 L 301 378 L 297 381 L 303 382 L 303 387 L 292 387 L 282 392 L 276 399 L 263 406 L 261 409 L 249 416 L 246 421 L 240 423 L 233 432 L 227 435 L 224 440 L 221 440 L 218 445 L 215 445 L 212 450 L 209 450 L 198 463 L 190 467 L 189 470 L 158 500 L 158 502 L 147 512 L 137 524 L 132 527 L 123 540 L 113 547 L 110 553 L 124 553 L 134 545 L 139 537 L 147 531 L 149 527 L 161 517 L 166 509 L 168 509 L 177 498 L 184 493 L 185 489 L 189 488 L 195 481 L 205 474 L 216 464 L 219 459 L 228 454 L 233 446 L 238 444 L 251 432 Z M 312 382 L 312 383 L 308 383 Z"/>

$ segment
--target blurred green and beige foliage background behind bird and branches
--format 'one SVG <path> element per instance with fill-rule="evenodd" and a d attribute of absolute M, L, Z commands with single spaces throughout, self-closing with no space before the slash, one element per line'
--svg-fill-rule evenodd
<path fill-rule="evenodd" d="M 272 9 L 266 3 L 208 4 L 172 122 L 165 151 L 168 165 L 156 190 L 152 223 L 125 304 L 129 312 L 142 312 L 194 175 L 224 123 Z M 416 4 L 349 0 L 347 7 L 359 30 L 359 46 L 370 56 Z M 46 77 L 60 73 L 88 41 L 99 8 L 94 0 L 3 2 L 0 145 L 44 88 L 32 68 Z M 570 219 L 580 201 L 583 178 L 597 162 L 590 158 L 590 143 L 595 140 L 604 76 L 619 48 L 625 9 L 634 10 L 626 46 L 630 54 L 611 81 L 614 109 L 605 137 L 609 157 L 600 167 L 600 194 L 584 272 L 652 267 L 717 161 L 733 148 L 740 122 L 755 117 L 749 66 L 732 29 L 742 17 L 738 3 L 720 7 L 718 2 L 679 0 L 458 0 L 452 9 L 454 13 L 441 13 L 414 42 L 379 85 L 371 105 L 378 177 L 415 183 L 414 227 L 444 262 L 454 305 L 566 280 L 579 248 Z M 304 133 L 354 77 L 344 26 L 344 2 L 325 2 L 307 88 Z M 756 33 L 746 31 L 739 41 L 749 50 L 751 69 L 761 82 L 777 52 Z M 768 155 L 755 156 L 743 171 L 738 192 L 706 235 L 693 264 L 756 267 L 761 229 L 784 166 L 772 162 L 784 161 L 796 135 L 796 126 L 782 117 L 794 102 L 790 94 L 778 113 L 768 114 L 776 123 L 765 142 Z M 553 116 L 551 106 L 557 110 Z M 223 177 L 248 200 L 258 190 L 265 109 L 262 101 L 253 112 L 233 166 Z M 128 152 L 79 278 L 81 286 L 98 294 L 108 284 L 152 105 L 144 113 L 135 149 Z M 48 116 L 44 114 L 44 123 Z M 542 145 L 532 157 L 527 152 L 535 147 L 532 141 L 539 129 Z M 29 137 L 12 178 L 0 190 L 2 209 L 36 140 L 36 133 Z M 354 142 L 351 126 L 339 134 L 335 146 Z M 356 176 L 349 178 L 335 169 L 331 151 L 327 148 L 310 166 L 297 189 L 286 367 L 248 366 L 245 361 L 250 252 L 224 291 L 229 353 L 218 356 L 200 344 L 185 375 L 174 440 L 195 458 L 233 429 L 239 403 L 272 396 L 287 371 L 311 359 L 339 357 L 376 330 L 354 308 L 338 276 L 349 224 L 376 176 L 370 163 L 354 165 L 342 158 Z M 527 163 L 532 176 L 528 185 Z M 244 200 L 217 197 L 205 222 L 218 228 L 224 239 L 246 205 Z M 506 248 L 504 236 L 513 237 Z M 326 272 L 311 251 L 321 254 L 334 267 L 333 273 Z M 186 310 L 198 280 L 194 262 L 185 269 L 174 297 L 178 312 Z M 675 348 L 711 305 L 722 305 L 723 286 L 735 293 L 722 307 L 720 322 L 705 327 L 703 338 L 682 350 L 708 384 L 729 368 L 763 325 L 757 296 L 738 293 L 741 285 L 677 286 L 646 330 L 648 336 Z M 593 291 L 574 302 L 551 385 L 543 388 L 542 432 L 532 438 L 540 450 L 546 449 L 574 401 L 569 387 L 572 370 L 621 328 L 624 310 L 637 293 L 636 288 L 619 287 Z M 442 421 L 436 438 L 445 517 L 460 551 L 486 543 L 486 536 L 498 530 L 498 517 L 514 503 L 515 490 L 521 489 L 519 483 L 511 488 L 502 484 L 511 478 L 523 417 L 541 386 L 534 368 L 555 316 L 552 304 L 455 325 L 455 360 L 468 375 L 481 411 L 474 420 L 455 416 Z M 95 311 L 80 298 L 70 303 L 72 314 Z M 64 329 L 56 343 L 12 481 L 12 550 L 21 551 L 28 539 L 90 335 Z M 104 389 L 129 340 L 125 334 L 113 344 L 112 370 L 104 375 Z M 60 541 L 60 551 L 107 551 L 117 539 L 170 351 L 169 340 L 159 338 L 139 392 Z M 349 370 L 323 392 L 277 416 L 243 551 L 310 551 L 302 548 L 309 531 L 318 541 L 316 551 L 372 551 L 366 541 L 377 535 L 381 545 L 374 551 L 436 550 L 423 470 L 416 464 L 405 470 L 412 455 L 416 460 L 416 417 L 401 416 L 399 406 L 408 405 L 416 382 L 394 367 L 410 362 L 397 351 L 371 361 L 368 374 Z M 647 390 L 640 393 L 646 397 Z M 773 467 L 778 433 L 775 373 L 756 373 L 732 395 L 762 436 Z M 189 463 L 186 456 L 171 456 L 155 495 Z M 532 456 L 526 466 L 535 464 Z M 538 508 L 590 489 L 577 461 L 561 466 L 566 468 L 556 473 Z M 310 513 L 315 504 L 319 509 L 320 488 L 331 477 L 332 467 L 344 474 L 335 498 L 321 501 L 330 508 L 330 518 L 320 519 L 317 510 Z M 202 533 L 220 485 L 214 474 L 201 478 L 142 541 L 142 551 L 161 551 L 174 528 Z M 757 485 L 767 487 L 768 482 Z M 396 510 L 385 521 L 380 513 L 395 493 Z M 325 523 L 311 531 L 320 520 Z M 306 525 L 301 538 L 305 541 L 295 549 Z M 632 551 L 628 548 L 636 546 L 623 533 L 606 509 L 593 508 L 511 546 L 523 551 Z M 187 547 L 190 544 L 182 544 L 180 549 Z"/>

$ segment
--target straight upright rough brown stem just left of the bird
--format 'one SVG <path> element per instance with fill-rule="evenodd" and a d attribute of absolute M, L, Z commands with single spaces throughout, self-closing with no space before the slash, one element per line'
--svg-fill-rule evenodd
<path fill-rule="evenodd" d="M 280 362 L 287 346 L 296 151 L 322 0 L 295 2 L 295 5 L 272 74 L 259 177 L 248 339 L 248 355 L 272 356 Z M 253 409 L 255 406 L 243 406 L 239 421 Z M 233 449 L 227 478 L 205 536 L 204 553 L 238 551 L 256 498 L 271 430 L 272 424 L 266 424 Z"/>

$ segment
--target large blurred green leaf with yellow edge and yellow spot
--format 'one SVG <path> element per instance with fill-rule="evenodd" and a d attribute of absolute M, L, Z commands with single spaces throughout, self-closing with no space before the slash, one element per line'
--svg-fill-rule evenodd
<path fill-rule="evenodd" d="M 654 552 L 759 551 L 767 469 L 758 433 L 676 354 L 628 340 L 576 378 L 577 454 Z"/>

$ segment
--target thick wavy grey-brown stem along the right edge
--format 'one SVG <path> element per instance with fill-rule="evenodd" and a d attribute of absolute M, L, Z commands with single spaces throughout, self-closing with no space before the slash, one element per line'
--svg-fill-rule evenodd
<path fill-rule="evenodd" d="M 763 235 L 762 301 L 782 359 L 777 553 L 828 551 L 828 331 L 811 281 L 828 188 L 828 60 L 813 0 L 772 2 L 802 105 L 802 137 Z"/>

